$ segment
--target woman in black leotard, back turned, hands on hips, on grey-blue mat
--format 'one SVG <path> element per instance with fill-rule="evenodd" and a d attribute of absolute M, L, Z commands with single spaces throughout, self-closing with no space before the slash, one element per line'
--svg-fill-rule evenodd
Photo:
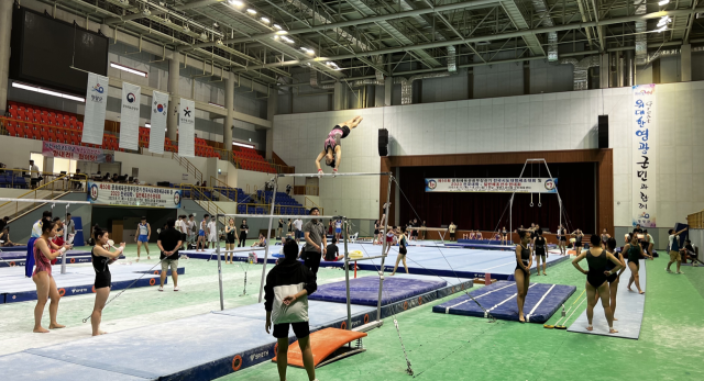
<path fill-rule="evenodd" d="M 608 277 L 614 276 L 618 270 L 624 266 L 613 254 L 602 249 L 600 247 L 602 239 L 598 235 L 593 234 L 590 238 L 590 243 L 592 246 L 588 250 L 584 250 L 572 260 L 572 265 L 575 269 L 580 270 L 582 273 L 586 274 L 586 320 L 588 322 L 588 326 L 586 330 L 593 330 L 592 320 L 594 318 L 594 306 L 598 298 L 602 299 L 602 306 L 604 307 L 604 315 L 606 315 L 606 321 L 608 322 L 608 333 L 615 334 L 618 330 L 614 329 L 614 313 L 612 312 L 609 305 L 609 289 L 606 280 Z M 586 262 L 590 266 L 590 270 L 585 271 L 581 266 L 580 261 L 586 258 Z M 608 262 L 613 264 L 610 270 L 606 270 L 606 266 Z"/>

